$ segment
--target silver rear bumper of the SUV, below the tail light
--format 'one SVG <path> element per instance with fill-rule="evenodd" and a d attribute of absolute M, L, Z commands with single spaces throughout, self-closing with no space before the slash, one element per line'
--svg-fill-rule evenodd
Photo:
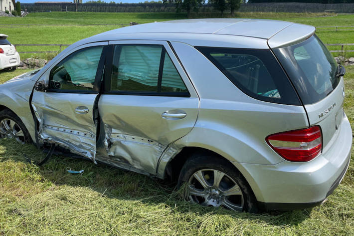
<path fill-rule="evenodd" d="M 260 208 L 268 211 L 311 208 L 332 194 L 348 169 L 353 138 L 345 115 L 333 139 L 330 149 L 309 162 L 233 164 L 247 179 Z"/>

